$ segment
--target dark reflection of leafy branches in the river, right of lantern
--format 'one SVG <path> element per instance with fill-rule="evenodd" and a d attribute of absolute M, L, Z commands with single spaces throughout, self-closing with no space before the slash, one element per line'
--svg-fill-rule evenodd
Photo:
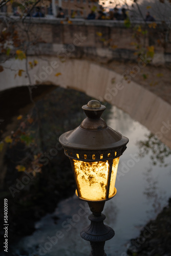
<path fill-rule="evenodd" d="M 146 181 L 144 195 L 148 203 L 153 207 L 147 210 L 147 213 L 151 216 L 152 212 L 158 214 L 162 210 L 163 205 L 161 202 L 167 199 L 166 192 L 160 189 L 159 186 L 159 173 L 156 177 L 154 172 L 157 172 L 158 167 L 163 167 L 163 176 L 165 176 L 164 167 L 168 166 L 170 168 L 169 156 L 171 155 L 171 150 L 152 133 L 146 134 L 145 139 L 138 141 L 137 145 L 139 148 L 139 156 L 144 158 L 148 155 L 150 158 L 150 167 L 144 172 Z"/>

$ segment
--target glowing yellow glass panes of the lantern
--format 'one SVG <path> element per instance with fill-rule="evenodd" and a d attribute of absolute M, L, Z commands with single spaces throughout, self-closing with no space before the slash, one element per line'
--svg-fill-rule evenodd
<path fill-rule="evenodd" d="M 105 200 L 109 179 L 109 160 L 83 162 L 73 160 L 76 180 L 81 198 Z M 114 194 L 119 157 L 113 160 L 109 197 Z"/>

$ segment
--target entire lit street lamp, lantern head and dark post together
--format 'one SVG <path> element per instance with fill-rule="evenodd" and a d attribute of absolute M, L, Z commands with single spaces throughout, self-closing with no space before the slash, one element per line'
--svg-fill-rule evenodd
<path fill-rule="evenodd" d="M 100 117 L 105 110 L 97 100 L 91 100 L 82 109 L 87 115 L 74 130 L 62 134 L 59 142 L 70 158 L 76 195 L 87 201 L 92 214 L 90 226 L 80 232 L 90 241 L 90 256 L 105 256 L 104 244 L 114 237 L 114 230 L 104 225 L 101 214 L 105 201 L 116 195 L 115 180 L 119 157 L 129 139 L 111 129 Z"/>

